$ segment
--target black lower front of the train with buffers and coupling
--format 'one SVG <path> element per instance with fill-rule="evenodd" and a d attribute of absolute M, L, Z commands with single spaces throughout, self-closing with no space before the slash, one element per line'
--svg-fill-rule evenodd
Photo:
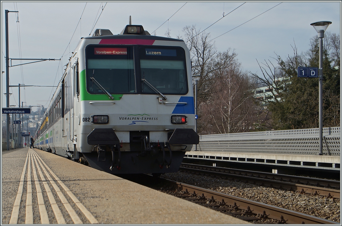
<path fill-rule="evenodd" d="M 93 151 L 82 155 L 92 168 L 112 174 L 172 173 L 179 170 L 187 145 L 199 143 L 199 136 L 193 129 L 175 129 L 169 143 L 164 144 L 150 143 L 147 134 L 139 132 L 132 136 L 138 151 L 121 151 L 113 129 L 96 128 L 87 136 L 88 144 L 95 145 Z M 185 148 L 171 151 L 170 145 Z"/>

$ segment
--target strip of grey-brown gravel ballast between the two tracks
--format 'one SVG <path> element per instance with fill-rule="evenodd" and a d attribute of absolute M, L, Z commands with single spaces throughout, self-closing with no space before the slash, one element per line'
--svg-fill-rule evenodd
<path fill-rule="evenodd" d="M 160 177 L 340 222 L 340 199 L 185 172 L 168 173 Z"/>

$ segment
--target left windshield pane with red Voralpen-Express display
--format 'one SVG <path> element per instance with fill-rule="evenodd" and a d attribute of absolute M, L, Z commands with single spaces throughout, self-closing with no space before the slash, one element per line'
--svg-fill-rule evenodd
<path fill-rule="evenodd" d="M 104 94 L 90 78 L 94 78 L 109 93 L 135 93 L 132 47 L 87 48 L 87 91 Z"/>

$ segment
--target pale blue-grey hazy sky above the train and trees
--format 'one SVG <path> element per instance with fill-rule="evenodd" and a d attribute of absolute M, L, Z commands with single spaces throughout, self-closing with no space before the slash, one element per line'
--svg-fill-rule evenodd
<path fill-rule="evenodd" d="M 298 53 L 308 50 L 310 38 L 317 35 L 311 23 L 331 21 L 327 31 L 341 35 L 341 1 L 1 1 L 2 71 L 6 71 L 5 10 L 18 11 L 8 16 L 10 58 L 57 59 L 9 69 L 10 85 L 37 85 L 22 87 L 20 102 L 45 108 L 56 88 L 43 86 L 58 84 L 80 38 L 92 35 L 96 28 L 119 34 L 129 24 L 130 15 L 132 24 L 143 25 L 151 34 L 155 31 L 157 36 L 165 37 L 169 29 L 171 37 L 176 38 L 184 37 L 185 26 L 196 25 L 202 31 L 224 14 L 205 32 L 210 33 L 217 51 L 234 50 L 242 70 L 258 75 L 261 70 L 257 60 L 276 64 L 273 57 L 293 55 L 294 44 Z M 29 62 L 13 60 L 12 65 Z M 6 72 L 2 74 L 1 89 L 2 107 L 6 107 Z M 10 105 L 18 107 L 18 87 L 10 88 L 10 93 Z"/>

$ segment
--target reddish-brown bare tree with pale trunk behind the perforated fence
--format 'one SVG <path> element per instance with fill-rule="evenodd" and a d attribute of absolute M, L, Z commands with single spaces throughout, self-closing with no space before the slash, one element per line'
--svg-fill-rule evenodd
<path fill-rule="evenodd" d="M 212 59 L 212 92 L 200 104 L 199 127 L 203 133 L 236 133 L 253 129 L 255 103 L 252 83 L 247 72 L 241 71 L 237 54 L 230 49 L 218 52 Z"/>

